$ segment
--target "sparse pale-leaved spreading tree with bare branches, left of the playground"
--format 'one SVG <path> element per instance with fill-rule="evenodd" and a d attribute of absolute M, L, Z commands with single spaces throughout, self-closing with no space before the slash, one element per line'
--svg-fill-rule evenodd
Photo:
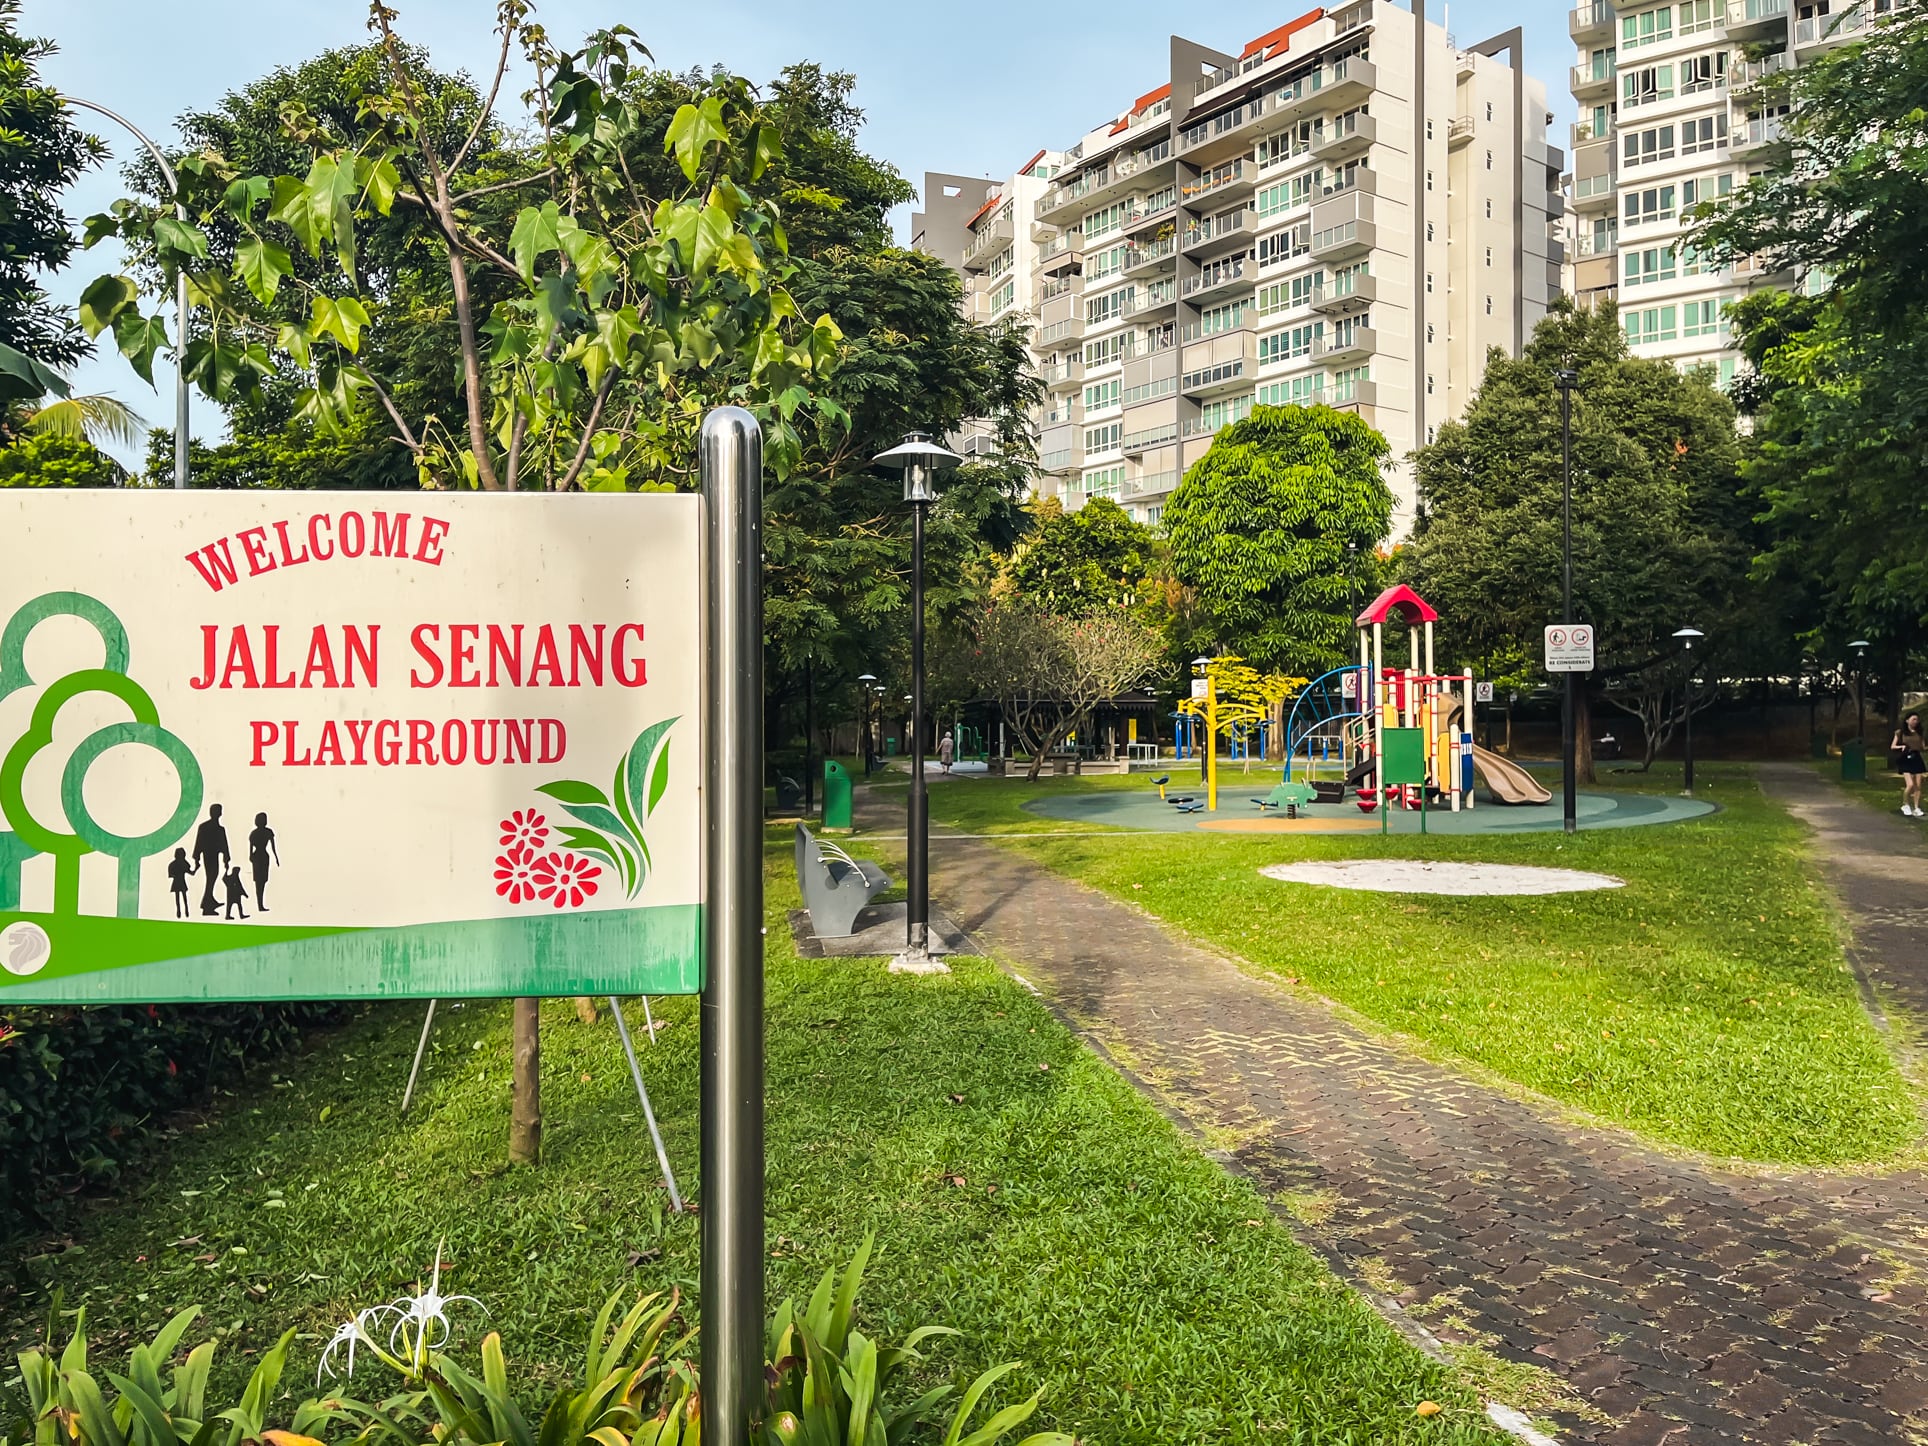
<path fill-rule="evenodd" d="M 933 671 L 958 696 L 999 706 L 1031 758 L 1026 777 L 1035 781 L 1051 746 L 1082 729 L 1107 698 L 1143 686 L 1161 654 L 1159 634 L 1122 607 L 1072 617 L 1006 594 L 968 634 L 939 646 Z"/>

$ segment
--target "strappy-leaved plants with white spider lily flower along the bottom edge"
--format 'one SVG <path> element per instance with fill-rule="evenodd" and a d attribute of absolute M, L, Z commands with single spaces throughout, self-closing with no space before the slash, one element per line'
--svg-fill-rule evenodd
<path fill-rule="evenodd" d="M 900 1346 L 877 1346 L 852 1326 L 856 1292 L 870 1259 L 870 1240 L 839 1278 L 825 1271 L 808 1307 L 777 1307 L 769 1326 L 769 1409 L 765 1446 L 902 1446 L 951 1396 L 937 1386 L 895 1404 L 889 1386 L 924 1359 L 918 1346 L 956 1334 L 949 1326 L 914 1330 Z M 443 1353 L 447 1311 L 457 1301 L 428 1292 L 362 1311 L 341 1326 L 322 1353 L 326 1373 L 355 1353 L 376 1359 L 401 1379 L 403 1390 L 380 1404 L 343 1394 L 308 1400 L 270 1425 L 268 1411 L 287 1369 L 295 1340 L 289 1330 L 254 1367 L 241 1400 L 208 1400 L 214 1344 L 202 1342 L 170 1369 L 197 1311 L 175 1315 L 147 1346 L 135 1346 L 125 1375 L 108 1375 L 112 1396 L 87 1363 L 87 1313 L 56 1361 L 42 1350 L 19 1357 L 25 1400 L 0 1417 L 0 1446 L 700 1446 L 702 1386 L 696 1330 L 681 1328 L 681 1298 L 646 1296 L 615 1319 L 615 1296 L 590 1326 L 580 1382 L 559 1388 L 540 1411 L 526 1415 L 509 1377 L 501 1336 L 482 1342 L 480 1375 Z M 943 1434 L 943 1446 L 995 1446 L 1037 1409 L 1037 1396 L 993 1411 L 972 1429 L 970 1419 L 997 1380 L 1016 1369 L 1001 1365 L 979 1375 Z M 1037 1433 L 1018 1446 L 1074 1446 L 1070 1436 Z"/>

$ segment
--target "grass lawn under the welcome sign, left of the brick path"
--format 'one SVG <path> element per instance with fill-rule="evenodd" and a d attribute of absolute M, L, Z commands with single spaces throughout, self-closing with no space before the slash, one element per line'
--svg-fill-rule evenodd
<path fill-rule="evenodd" d="M 960 1326 L 933 1352 L 958 1379 L 1024 1361 L 999 1390 L 1045 1388 L 1031 1429 L 1112 1446 L 1500 1440 L 1463 1377 L 1398 1338 L 987 962 L 900 979 L 877 960 L 796 958 L 787 843 L 769 902 L 771 1299 L 808 1292 L 873 1230 L 866 1330 Z M 659 1001 L 659 1018 L 642 1062 L 694 1192 L 694 1001 Z M 640 1010 L 630 1020 L 642 1039 Z M 222 1101 L 23 1265 L 35 1286 L 0 1296 L 0 1359 L 37 1338 L 52 1292 L 89 1309 L 112 1361 L 201 1303 L 229 1386 L 297 1326 L 301 1394 L 328 1332 L 422 1278 L 445 1242 L 447 1288 L 488 1303 L 534 1390 L 575 1367 L 607 1292 L 690 1288 L 696 1220 L 665 1211 L 607 1022 L 578 1024 L 565 1001 L 546 1010 L 536 1172 L 501 1163 L 507 1008 L 443 1014 L 403 1124 L 418 1026 L 415 1006 L 368 1012 Z M 1413 1406 L 1429 1398 L 1446 1411 L 1423 1421 Z"/>

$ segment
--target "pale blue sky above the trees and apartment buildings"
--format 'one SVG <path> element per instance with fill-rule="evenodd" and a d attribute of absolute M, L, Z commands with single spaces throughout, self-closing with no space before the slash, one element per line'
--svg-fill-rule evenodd
<path fill-rule="evenodd" d="M 494 69 L 492 0 L 391 0 L 401 33 L 428 48 L 442 69 L 482 79 Z M 1303 0 L 1220 0 L 1182 10 L 1184 35 L 1238 52 L 1245 40 L 1305 12 Z M 538 19 L 557 44 L 605 25 L 629 25 L 673 69 L 723 64 L 762 81 L 792 60 L 814 60 L 856 75 L 866 112 L 862 145 L 893 162 L 912 185 L 924 174 L 1004 177 L 1041 147 L 1062 148 L 1134 96 L 1163 83 L 1172 4 L 1018 4 L 1014 0 L 542 0 Z M 1546 85 L 1558 121 L 1552 143 L 1566 145 L 1573 102 L 1566 69 L 1564 0 L 1458 0 L 1444 13 L 1461 44 L 1523 25 L 1527 73 Z M 174 118 L 212 106 L 258 75 L 293 66 L 330 46 L 366 39 L 366 6 L 357 0 L 25 0 L 21 33 L 54 40 L 42 79 L 118 110 L 162 148 L 175 143 Z M 522 87 L 513 87 L 519 93 Z M 505 87 L 505 94 L 511 87 Z M 509 104 L 519 104 L 513 98 Z M 85 112 L 83 112 L 85 116 Z M 66 197 L 69 218 L 106 210 L 123 195 L 121 164 L 137 143 L 106 120 L 87 127 L 114 150 L 114 162 L 81 177 Z M 908 208 L 897 216 L 902 235 Z M 112 251 L 79 253 L 48 291 L 73 303 L 85 283 L 112 270 Z M 172 312 L 170 312 L 172 318 Z M 172 320 L 170 320 L 172 324 Z M 174 376 L 156 364 L 148 391 L 118 355 L 96 357 L 75 374 L 79 391 L 108 391 L 156 426 L 172 426 Z M 193 432 L 220 438 L 212 403 L 195 399 Z M 125 459 L 123 461 L 131 461 Z"/>

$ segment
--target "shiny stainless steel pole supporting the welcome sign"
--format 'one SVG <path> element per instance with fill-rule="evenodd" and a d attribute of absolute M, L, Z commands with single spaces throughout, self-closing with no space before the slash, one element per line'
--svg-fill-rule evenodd
<path fill-rule="evenodd" d="M 704 418 L 704 1434 L 762 1436 L 763 1388 L 763 434 Z"/>

